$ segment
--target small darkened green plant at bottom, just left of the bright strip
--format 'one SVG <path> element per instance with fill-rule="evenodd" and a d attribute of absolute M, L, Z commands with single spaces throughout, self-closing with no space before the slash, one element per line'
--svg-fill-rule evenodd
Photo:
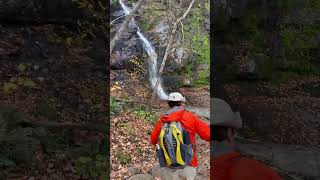
<path fill-rule="evenodd" d="M 102 154 L 94 157 L 79 157 L 76 161 L 76 169 L 82 178 L 108 179 L 108 161 Z"/>

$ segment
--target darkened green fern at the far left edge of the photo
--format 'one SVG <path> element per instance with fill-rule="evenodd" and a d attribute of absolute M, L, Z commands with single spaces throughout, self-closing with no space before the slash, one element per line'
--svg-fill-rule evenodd
<path fill-rule="evenodd" d="M 22 128 L 23 115 L 12 106 L 0 107 L 0 166 L 30 164 L 39 147 L 35 129 Z"/>

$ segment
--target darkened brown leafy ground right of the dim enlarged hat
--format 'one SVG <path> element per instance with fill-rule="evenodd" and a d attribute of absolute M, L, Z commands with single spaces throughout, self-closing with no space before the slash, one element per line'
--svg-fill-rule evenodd
<path fill-rule="evenodd" d="M 273 84 L 234 82 L 224 86 L 241 112 L 240 134 L 249 139 L 320 148 L 320 78 Z"/>

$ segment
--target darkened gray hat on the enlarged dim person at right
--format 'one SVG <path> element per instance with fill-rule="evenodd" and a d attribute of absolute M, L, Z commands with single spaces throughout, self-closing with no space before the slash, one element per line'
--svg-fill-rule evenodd
<path fill-rule="evenodd" d="M 240 129 L 242 119 L 239 112 L 234 113 L 228 103 L 219 98 L 210 99 L 210 118 L 212 125 Z"/>

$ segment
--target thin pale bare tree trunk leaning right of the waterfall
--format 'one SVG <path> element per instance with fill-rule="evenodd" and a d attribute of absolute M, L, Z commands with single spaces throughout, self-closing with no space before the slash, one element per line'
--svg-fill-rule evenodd
<path fill-rule="evenodd" d="M 177 19 L 177 21 L 174 23 L 173 25 L 173 29 L 172 29 L 172 32 L 170 34 L 170 37 L 169 37 L 169 40 L 168 40 L 168 44 L 167 44 L 167 48 L 166 48 L 166 51 L 164 53 L 164 56 L 163 56 L 163 59 L 162 59 L 162 62 L 161 62 L 161 65 L 160 65 L 160 69 L 159 69 L 159 72 L 158 72 L 158 78 L 157 78 L 157 81 L 156 81 L 156 84 L 154 86 L 154 89 L 153 89 L 153 93 L 152 93 L 152 101 L 155 99 L 155 95 L 156 95 L 156 92 L 157 92 L 157 89 L 158 89 L 158 86 L 160 84 L 160 78 L 161 78 L 161 75 L 162 75 L 162 71 L 164 69 L 164 65 L 167 61 L 167 58 L 168 58 L 168 55 L 169 55 L 169 51 L 171 50 L 171 44 L 172 44 L 172 41 L 173 41 L 173 38 L 174 38 L 174 35 L 177 31 L 177 26 L 178 26 L 178 23 L 180 23 L 183 19 L 186 18 L 186 16 L 188 15 L 188 13 L 190 12 L 192 6 L 193 6 L 193 3 L 194 3 L 194 0 L 191 1 L 188 9 L 186 10 L 186 12 L 183 14 L 182 17 L 180 17 L 179 19 Z"/>

